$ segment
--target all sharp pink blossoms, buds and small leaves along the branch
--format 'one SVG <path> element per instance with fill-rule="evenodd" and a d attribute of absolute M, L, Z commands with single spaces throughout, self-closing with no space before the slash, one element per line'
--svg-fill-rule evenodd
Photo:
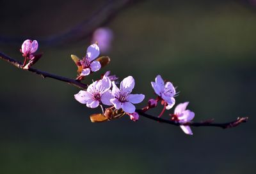
<path fill-rule="evenodd" d="M 36 40 L 26 40 L 20 48 L 22 56 L 25 58 L 23 69 L 28 69 L 39 58 L 40 55 L 34 55 L 38 49 L 38 42 Z M 83 59 L 79 59 L 76 55 L 71 55 L 73 61 L 76 63 L 79 73 L 76 80 L 79 82 L 83 80 L 84 76 L 90 73 L 99 71 L 100 68 L 109 63 L 109 57 L 99 57 L 100 49 L 97 43 L 90 45 Z M 97 58 L 99 57 L 99 58 Z M 95 60 L 96 59 L 96 60 Z M 29 61 L 27 63 L 27 61 Z M 172 82 L 165 82 L 160 75 L 157 75 L 155 82 L 151 82 L 152 88 L 157 95 L 156 99 L 149 99 L 147 106 L 141 110 L 136 110 L 134 104 L 141 103 L 144 94 L 132 94 L 135 86 L 135 80 L 132 76 L 127 76 L 120 82 L 120 87 L 117 87 L 118 78 L 115 75 L 110 75 L 110 71 L 106 71 L 100 76 L 99 80 L 92 82 L 85 90 L 79 91 L 74 95 L 74 98 L 86 105 L 88 108 L 102 109 L 101 113 L 91 115 L 92 122 L 102 122 L 105 120 L 116 119 L 123 115 L 129 115 L 130 119 L 136 121 L 139 119 L 139 113 L 146 112 L 151 108 L 156 108 L 160 102 L 163 105 L 163 110 L 158 117 L 161 117 L 166 110 L 170 110 L 175 105 L 175 97 L 177 92 Z M 176 106 L 174 113 L 170 115 L 170 122 L 179 123 L 180 128 L 186 134 L 193 134 L 189 123 L 195 117 L 195 113 L 187 110 L 189 102 L 180 103 Z M 137 112 L 136 112 L 137 111 Z M 160 119 L 161 120 L 161 119 Z"/>

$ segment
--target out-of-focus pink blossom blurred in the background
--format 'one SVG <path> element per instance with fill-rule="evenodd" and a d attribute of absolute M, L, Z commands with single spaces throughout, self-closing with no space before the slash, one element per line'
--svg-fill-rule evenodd
<path fill-rule="evenodd" d="M 98 28 L 93 33 L 92 41 L 99 44 L 101 52 L 108 52 L 113 40 L 113 32 L 107 27 Z"/>

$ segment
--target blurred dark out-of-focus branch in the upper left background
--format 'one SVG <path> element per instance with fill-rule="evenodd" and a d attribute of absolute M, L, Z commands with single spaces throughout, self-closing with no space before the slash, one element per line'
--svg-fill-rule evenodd
<path fill-rule="evenodd" d="M 38 39 L 42 45 L 58 45 L 79 41 L 90 36 L 98 27 L 108 24 L 124 8 L 141 0 L 117 0 L 104 3 L 91 17 L 86 18 L 72 29 L 47 38 Z M 22 43 L 26 38 L 8 38 L 0 36 L 1 43 Z"/>

